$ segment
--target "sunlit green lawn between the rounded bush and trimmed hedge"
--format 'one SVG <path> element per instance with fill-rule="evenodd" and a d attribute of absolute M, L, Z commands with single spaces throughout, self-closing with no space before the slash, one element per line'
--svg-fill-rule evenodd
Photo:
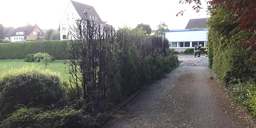
<path fill-rule="evenodd" d="M 25 66 L 35 65 L 35 67 L 45 68 L 45 64 L 36 62 L 25 62 L 24 59 L 14 59 L 14 60 L 0 60 L 0 73 L 10 70 L 11 68 L 20 68 Z M 64 62 L 50 62 L 47 68 L 51 69 L 53 72 L 59 72 L 62 75 L 62 79 L 68 81 L 67 74 L 64 73 L 68 69 L 65 68 Z"/>

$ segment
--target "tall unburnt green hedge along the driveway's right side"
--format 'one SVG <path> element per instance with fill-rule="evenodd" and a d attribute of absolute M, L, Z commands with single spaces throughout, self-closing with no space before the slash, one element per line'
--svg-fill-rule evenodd
<path fill-rule="evenodd" d="M 256 118 L 256 31 L 238 28 L 234 15 L 220 5 L 208 22 L 209 67 L 234 99 Z M 253 40 L 251 40 L 253 39 Z"/>

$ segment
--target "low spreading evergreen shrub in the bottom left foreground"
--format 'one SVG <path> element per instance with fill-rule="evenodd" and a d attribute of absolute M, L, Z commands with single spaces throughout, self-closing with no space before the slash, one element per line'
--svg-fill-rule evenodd
<path fill-rule="evenodd" d="M 52 109 L 50 107 L 50 109 Z M 81 110 L 70 108 L 45 110 L 21 108 L 2 121 L 1 128 L 99 128 L 108 116 L 84 115 Z"/>

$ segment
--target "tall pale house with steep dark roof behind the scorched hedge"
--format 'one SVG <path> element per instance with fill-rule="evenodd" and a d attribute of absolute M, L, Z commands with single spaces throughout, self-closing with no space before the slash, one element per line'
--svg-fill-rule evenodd
<path fill-rule="evenodd" d="M 68 38 L 69 27 L 76 26 L 77 19 L 91 20 L 94 23 L 99 23 L 102 26 L 101 28 L 108 25 L 106 21 L 100 19 L 93 6 L 70 0 L 60 20 L 60 40 Z"/>

